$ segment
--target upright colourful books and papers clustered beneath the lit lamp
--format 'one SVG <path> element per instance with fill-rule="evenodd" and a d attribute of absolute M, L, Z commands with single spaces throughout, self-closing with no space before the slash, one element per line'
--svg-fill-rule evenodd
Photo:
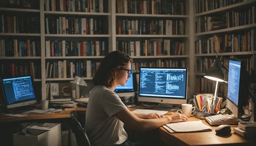
<path fill-rule="evenodd" d="M 194 95 L 193 103 L 198 112 L 219 113 L 222 109 L 222 97 L 216 96 L 214 104 L 213 98 L 213 94 L 197 94 Z"/>

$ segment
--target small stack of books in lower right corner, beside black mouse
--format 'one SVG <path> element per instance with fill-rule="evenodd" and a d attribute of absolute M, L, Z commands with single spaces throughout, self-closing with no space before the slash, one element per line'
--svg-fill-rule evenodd
<path fill-rule="evenodd" d="M 244 138 L 256 137 L 256 122 L 244 122 L 238 123 L 238 127 L 234 127 L 233 131 L 241 135 Z"/>

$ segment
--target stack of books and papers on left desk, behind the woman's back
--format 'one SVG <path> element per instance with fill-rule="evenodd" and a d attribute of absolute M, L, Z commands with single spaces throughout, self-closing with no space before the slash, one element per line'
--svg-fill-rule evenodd
<path fill-rule="evenodd" d="M 51 108 L 73 108 L 76 107 L 76 102 L 72 96 L 55 95 L 50 99 L 49 106 Z"/>

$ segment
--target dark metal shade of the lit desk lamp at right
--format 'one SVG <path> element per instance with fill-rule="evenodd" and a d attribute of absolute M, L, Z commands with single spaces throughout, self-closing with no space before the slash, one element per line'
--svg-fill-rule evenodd
<path fill-rule="evenodd" d="M 215 59 L 213 66 L 207 70 L 204 77 L 214 81 L 224 82 L 224 73 L 221 69 L 221 60 Z"/>

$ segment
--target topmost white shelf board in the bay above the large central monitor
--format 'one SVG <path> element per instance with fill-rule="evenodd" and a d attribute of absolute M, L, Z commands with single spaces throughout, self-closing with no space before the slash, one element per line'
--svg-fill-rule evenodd
<path fill-rule="evenodd" d="M 162 15 L 162 14 L 119 14 L 116 17 L 168 17 L 168 18 L 189 18 L 189 15 Z"/>

